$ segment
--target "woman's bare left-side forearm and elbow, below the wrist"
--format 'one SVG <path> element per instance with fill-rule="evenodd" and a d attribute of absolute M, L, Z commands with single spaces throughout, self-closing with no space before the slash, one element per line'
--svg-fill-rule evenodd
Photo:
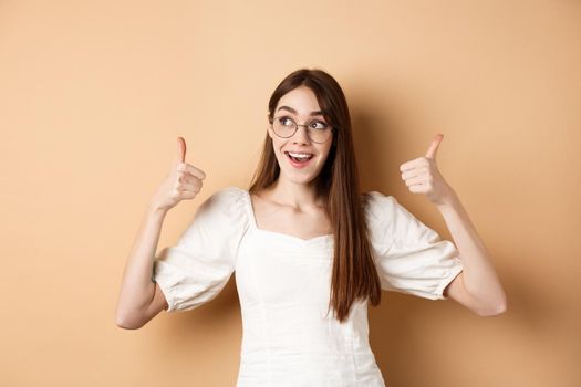
<path fill-rule="evenodd" d="M 166 210 L 152 206 L 142 221 L 123 273 L 116 311 L 116 324 L 120 327 L 139 328 L 167 308 L 159 285 L 152 282 L 153 260 L 166 213 Z"/>

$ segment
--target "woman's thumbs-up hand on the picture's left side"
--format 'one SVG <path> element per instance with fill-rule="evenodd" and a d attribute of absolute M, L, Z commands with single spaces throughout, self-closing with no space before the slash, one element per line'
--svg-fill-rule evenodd
<path fill-rule="evenodd" d="M 159 186 L 152 198 L 152 207 L 156 210 L 168 211 L 184 199 L 194 199 L 201 190 L 201 185 L 206 174 L 194 167 L 186 160 L 186 140 L 177 138 L 178 153 L 169 176 Z"/>

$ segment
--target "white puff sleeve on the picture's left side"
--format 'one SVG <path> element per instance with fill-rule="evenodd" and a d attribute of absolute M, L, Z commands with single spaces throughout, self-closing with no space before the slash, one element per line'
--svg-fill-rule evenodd
<path fill-rule="evenodd" d="M 198 207 L 177 245 L 164 248 L 155 258 L 152 281 L 159 284 L 167 312 L 198 307 L 228 283 L 248 228 L 242 194 L 238 187 L 212 194 Z"/>

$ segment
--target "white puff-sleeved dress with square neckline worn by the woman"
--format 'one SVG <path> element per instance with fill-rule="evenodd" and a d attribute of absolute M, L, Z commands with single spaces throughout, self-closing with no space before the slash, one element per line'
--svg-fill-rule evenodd
<path fill-rule="evenodd" d="M 365 207 L 383 290 L 446 300 L 463 270 L 455 245 L 401 206 L 372 191 Z M 242 314 L 237 387 L 384 387 L 369 343 L 367 302 L 343 324 L 328 314 L 333 236 L 300 239 L 257 228 L 238 187 L 204 201 L 177 245 L 163 249 L 152 279 L 167 312 L 212 300 L 236 272 Z"/>

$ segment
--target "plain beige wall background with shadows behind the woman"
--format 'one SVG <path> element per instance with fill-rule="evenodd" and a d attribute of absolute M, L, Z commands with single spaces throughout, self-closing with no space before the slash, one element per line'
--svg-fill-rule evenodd
<path fill-rule="evenodd" d="M 247 187 L 270 93 L 329 71 L 363 187 L 449 239 L 400 179 L 438 166 L 491 253 L 508 312 L 393 292 L 370 308 L 390 387 L 581 385 L 579 1 L 0 1 L 2 386 L 234 386 L 234 278 L 198 310 L 115 325 L 121 275 L 177 151 Z"/>

